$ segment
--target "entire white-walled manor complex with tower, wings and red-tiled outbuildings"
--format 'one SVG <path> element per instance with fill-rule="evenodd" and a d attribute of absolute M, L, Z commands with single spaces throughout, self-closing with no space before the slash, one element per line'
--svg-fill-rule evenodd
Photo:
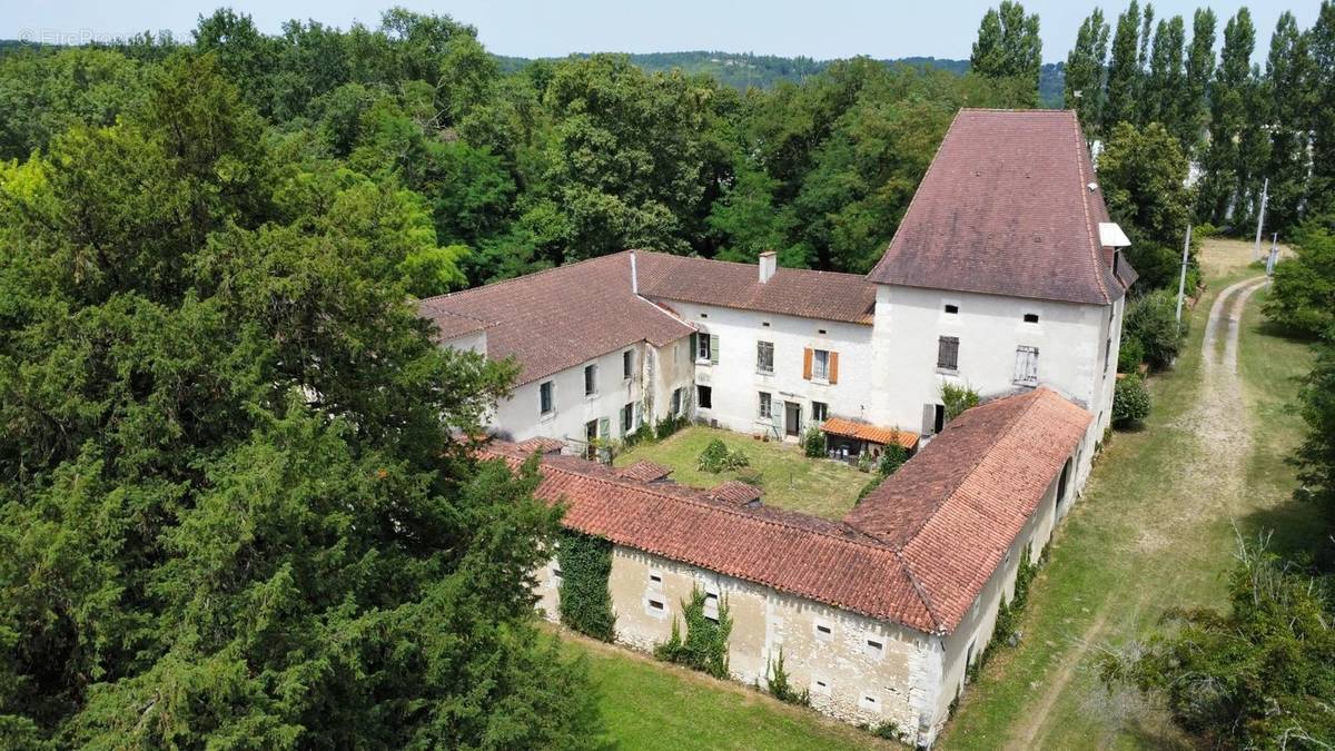
<path fill-rule="evenodd" d="M 782 649 L 818 710 L 930 744 L 1108 426 L 1127 245 L 1073 112 L 963 110 L 865 277 L 629 250 L 421 311 L 519 366 L 487 450 L 543 452 L 538 494 L 614 543 L 618 640 L 665 640 L 698 585 L 730 604 L 734 678 Z M 947 424 L 947 384 L 984 404 Z M 837 522 L 579 458 L 672 417 L 917 453 Z"/>

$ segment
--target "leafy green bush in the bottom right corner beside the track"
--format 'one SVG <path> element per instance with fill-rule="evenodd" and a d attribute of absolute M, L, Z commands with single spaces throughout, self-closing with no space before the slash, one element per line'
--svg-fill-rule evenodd
<path fill-rule="evenodd" d="M 1243 545 L 1227 612 L 1176 608 L 1143 644 L 1103 660 L 1109 686 L 1159 696 L 1210 746 L 1320 747 L 1335 738 L 1335 628 L 1320 580 Z"/>

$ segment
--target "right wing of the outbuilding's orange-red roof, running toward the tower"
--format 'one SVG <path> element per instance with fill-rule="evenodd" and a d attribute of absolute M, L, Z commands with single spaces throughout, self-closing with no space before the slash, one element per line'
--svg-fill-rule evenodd
<path fill-rule="evenodd" d="M 941 628 L 959 625 L 1092 417 L 1049 389 L 955 418 L 844 521 L 901 553 Z"/>

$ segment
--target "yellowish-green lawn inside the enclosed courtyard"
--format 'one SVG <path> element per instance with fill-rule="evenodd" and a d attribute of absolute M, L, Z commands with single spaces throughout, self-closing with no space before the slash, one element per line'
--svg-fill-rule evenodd
<path fill-rule="evenodd" d="M 697 460 L 714 438 L 724 441 L 729 449 L 742 450 L 750 466 L 718 474 L 701 472 Z M 614 464 L 625 466 L 639 460 L 673 468 L 673 480 L 694 488 L 713 488 L 725 480 L 758 484 L 765 492 L 761 498 L 765 505 L 825 518 L 841 518 L 848 513 L 857 492 L 872 478 L 872 474 L 842 462 L 808 458 L 794 444 L 757 441 L 741 433 L 700 426 L 684 428 L 655 444 L 641 444 L 618 456 Z"/>

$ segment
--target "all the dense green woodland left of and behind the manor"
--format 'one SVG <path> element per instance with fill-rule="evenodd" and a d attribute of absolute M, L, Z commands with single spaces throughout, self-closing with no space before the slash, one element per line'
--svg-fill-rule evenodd
<path fill-rule="evenodd" d="M 1248 226 L 1266 176 L 1270 226 L 1320 266 L 1335 5 L 1286 15 L 1264 68 L 1246 9 L 1218 60 L 1208 11 L 1189 40 L 1135 3 L 1111 25 L 1085 21 L 1063 86 L 1137 287 L 1171 283 L 1189 223 Z M 437 347 L 413 297 L 626 247 L 866 271 L 960 107 L 1044 100 L 1037 29 L 1008 0 L 967 72 L 858 57 L 748 87 L 501 60 L 403 9 L 5 47 L 0 746 L 591 744 L 527 593 L 559 509 L 457 438 L 513 371 Z"/>

